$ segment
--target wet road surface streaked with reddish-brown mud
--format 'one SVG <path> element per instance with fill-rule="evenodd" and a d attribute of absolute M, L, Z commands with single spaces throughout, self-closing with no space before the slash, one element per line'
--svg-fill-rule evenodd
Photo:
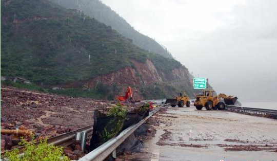
<path fill-rule="evenodd" d="M 149 160 L 277 160 L 275 119 L 196 111 L 194 106 L 168 108 L 152 117 L 160 125 L 145 142 L 144 151 L 152 153 Z"/>

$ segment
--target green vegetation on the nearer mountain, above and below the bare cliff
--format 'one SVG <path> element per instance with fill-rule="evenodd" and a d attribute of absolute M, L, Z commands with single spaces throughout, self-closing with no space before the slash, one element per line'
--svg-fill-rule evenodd
<path fill-rule="evenodd" d="M 21 88 L 62 95 L 114 99 L 120 87 L 98 84 L 51 90 L 64 83 L 89 80 L 123 67 L 135 69 L 132 60 L 153 62 L 158 73 L 186 69 L 180 62 L 148 52 L 132 40 L 75 9 L 64 9 L 47 0 L 1 1 L 1 76 L 23 77 L 34 84 L 4 82 Z M 105 82 L 103 82 L 105 83 Z M 135 87 L 165 96 L 164 87 Z M 161 89 L 160 89 L 161 88 Z M 147 96 L 147 97 L 148 97 Z"/>

